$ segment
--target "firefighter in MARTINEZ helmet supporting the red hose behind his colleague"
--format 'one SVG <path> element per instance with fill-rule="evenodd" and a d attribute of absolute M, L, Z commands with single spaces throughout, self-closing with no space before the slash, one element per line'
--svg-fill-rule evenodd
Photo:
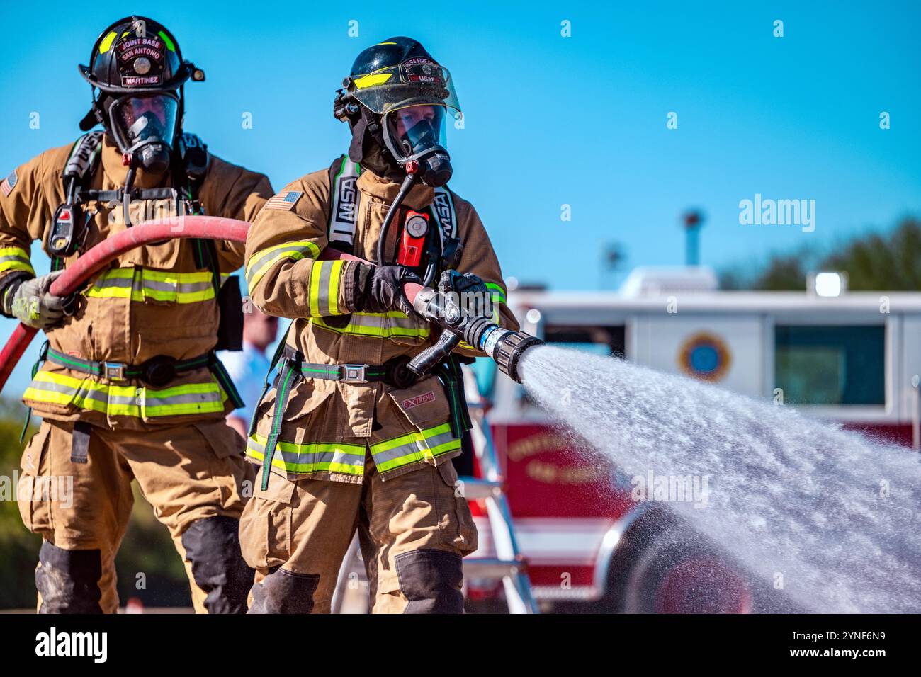
<path fill-rule="evenodd" d="M 239 515 L 251 473 L 225 421 L 239 396 L 215 357 L 236 343 L 239 286 L 227 274 L 243 262 L 242 244 L 165 239 L 122 254 L 72 298 L 49 288 L 125 228 L 193 214 L 251 221 L 273 191 L 182 133 L 183 85 L 204 73 L 156 21 L 113 23 L 80 72 L 93 92 L 87 134 L 0 186 L 0 309 L 48 339 L 23 396 L 43 421 L 23 453 L 19 493 L 26 526 L 43 539 L 39 611 L 116 611 L 114 558 L 137 480 L 184 560 L 196 611 L 243 613 L 252 572 Z M 36 276 L 33 240 L 51 274 Z M 72 500 L 33 490 L 71 477 Z"/>

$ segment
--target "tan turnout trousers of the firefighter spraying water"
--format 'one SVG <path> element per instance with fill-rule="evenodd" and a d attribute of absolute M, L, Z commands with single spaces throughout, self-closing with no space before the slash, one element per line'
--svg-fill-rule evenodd
<path fill-rule="evenodd" d="M 461 557 L 477 536 L 457 477 L 448 460 L 383 482 L 369 453 L 362 484 L 272 473 L 262 491 L 257 477 L 240 518 L 250 613 L 329 613 L 356 531 L 372 613 L 461 613 Z"/>

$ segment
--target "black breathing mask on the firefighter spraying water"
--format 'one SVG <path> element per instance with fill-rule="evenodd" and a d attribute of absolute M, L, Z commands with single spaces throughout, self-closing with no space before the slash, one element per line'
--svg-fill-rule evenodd
<path fill-rule="evenodd" d="M 384 113 L 384 144 L 398 163 L 415 161 L 419 179 L 429 186 L 450 181 L 451 158 L 445 139 L 445 106 L 417 104 Z"/>

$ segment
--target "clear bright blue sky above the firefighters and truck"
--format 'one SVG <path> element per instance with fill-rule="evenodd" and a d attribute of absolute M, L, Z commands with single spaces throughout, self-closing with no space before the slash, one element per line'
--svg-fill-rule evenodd
<path fill-rule="evenodd" d="M 4 175 L 78 134 L 89 88 L 76 64 L 133 8 L 85 7 L 5 8 L 15 29 L 0 41 Z M 392 35 L 423 41 L 454 75 L 465 112 L 465 128 L 449 130 L 451 187 L 522 281 L 591 289 L 635 265 L 682 263 L 678 217 L 689 206 L 707 215 L 702 262 L 717 268 L 921 214 L 918 2 L 157 7 L 150 16 L 207 75 L 186 88 L 186 129 L 276 189 L 348 146 L 332 94 L 356 53 Z M 677 129 L 666 125 L 672 111 Z M 245 112 L 252 129 L 242 129 Z M 815 231 L 740 226 L 739 202 L 755 193 L 815 200 Z M 609 242 L 627 255 L 621 274 L 600 272 Z M 47 266 L 37 245 L 33 258 Z"/>

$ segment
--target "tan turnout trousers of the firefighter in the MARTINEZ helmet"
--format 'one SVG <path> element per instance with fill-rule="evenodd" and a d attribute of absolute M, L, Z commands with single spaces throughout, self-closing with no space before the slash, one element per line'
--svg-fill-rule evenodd
<path fill-rule="evenodd" d="M 218 552 L 231 546 L 239 550 L 236 520 L 245 503 L 242 494 L 249 493 L 241 487 L 244 480 L 252 481 L 239 435 L 224 420 L 146 431 L 94 426 L 87 462 L 79 463 L 71 459 L 73 429 L 72 423 L 45 420 L 22 455 L 19 511 L 29 531 L 41 533 L 43 539 L 36 569 L 39 610 L 48 611 L 42 609 L 42 581 L 46 589 L 53 590 L 53 578 L 68 577 L 71 580 L 64 580 L 63 590 L 57 586 L 64 598 L 85 601 L 87 595 L 95 594 L 102 612 L 118 609 L 115 554 L 134 505 L 131 484 L 137 480 L 157 519 L 169 528 L 185 563 L 195 611 L 230 613 L 224 601 L 206 603 L 208 591 L 196 583 L 192 559 L 202 563 L 196 571 L 199 580 L 225 578 L 224 589 L 213 589 L 208 602 L 227 594 L 227 579 L 230 585 L 242 585 L 245 576 L 251 583 L 251 571 L 239 553 L 237 566 L 232 554 Z M 191 530 L 196 523 L 199 526 Z M 187 531 L 194 538 L 183 543 Z M 187 545 L 202 555 L 189 556 Z M 90 554 L 92 551 L 99 553 Z M 61 571 L 52 573 L 49 569 L 54 566 Z M 99 591 L 87 593 L 97 574 Z M 247 584 L 242 590 L 243 604 L 248 589 Z M 67 603 L 61 606 L 66 609 Z M 77 603 L 78 611 L 87 611 L 79 606 L 82 602 Z M 95 611 L 95 604 L 91 606 Z"/>

